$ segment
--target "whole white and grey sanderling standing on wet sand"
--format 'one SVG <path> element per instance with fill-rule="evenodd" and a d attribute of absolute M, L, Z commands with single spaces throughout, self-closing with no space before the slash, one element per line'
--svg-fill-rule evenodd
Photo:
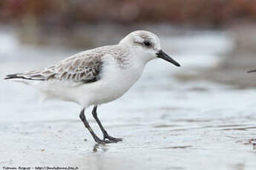
<path fill-rule="evenodd" d="M 125 36 L 119 44 L 79 52 L 45 69 L 7 75 L 4 79 L 22 82 L 39 89 L 47 98 L 72 101 L 82 106 L 80 119 L 96 143 L 116 143 L 97 116 L 97 106 L 120 98 L 142 75 L 145 64 L 163 58 L 177 67 L 180 64 L 165 54 L 154 33 L 139 30 Z M 85 109 L 93 106 L 92 115 L 103 139 L 91 129 Z"/>

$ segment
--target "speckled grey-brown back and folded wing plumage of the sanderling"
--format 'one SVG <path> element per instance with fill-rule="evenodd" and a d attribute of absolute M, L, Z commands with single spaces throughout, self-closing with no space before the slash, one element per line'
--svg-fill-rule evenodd
<path fill-rule="evenodd" d="M 114 58 L 116 64 L 125 69 L 129 58 L 128 50 L 119 45 L 99 47 L 79 52 L 76 55 L 59 61 L 50 67 L 16 74 L 16 77 L 37 81 L 70 81 L 73 83 L 91 83 L 99 80 L 104 58 Z"/>

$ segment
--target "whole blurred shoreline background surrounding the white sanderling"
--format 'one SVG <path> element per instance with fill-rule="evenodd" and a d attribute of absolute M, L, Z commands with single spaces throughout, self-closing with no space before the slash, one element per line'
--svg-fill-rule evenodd
<path fill-rule="evenodd" d="M 256 74 L 247 71 L 256 69 L 256 1 L 1 0 L 0 76 L 117 44 L 134 30 L 159 35 L 182 67 L 151 61 L 128 94 L 100 107 L 123 143 L 94 146 L 78 106 L 41 104 L 36 90 L 0 80 L 0 163 L 255 169 Z"/>

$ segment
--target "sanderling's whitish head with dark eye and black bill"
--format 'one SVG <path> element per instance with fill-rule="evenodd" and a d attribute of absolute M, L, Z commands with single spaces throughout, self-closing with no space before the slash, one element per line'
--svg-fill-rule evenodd
<path fill-rule="evenodd" d="M 174 59 L 161 50 L 160 39 L 154 33 L 145 30 L 134 31 L 126 35 L 125 38 L 122 38 L 119 44 L 131 47 L 138 56 L 140 55 L 143 61 L 147 62 L 154 58 L 163 58 L 165 61 L 180 67 L 177 61 L 174 61 Z"/>

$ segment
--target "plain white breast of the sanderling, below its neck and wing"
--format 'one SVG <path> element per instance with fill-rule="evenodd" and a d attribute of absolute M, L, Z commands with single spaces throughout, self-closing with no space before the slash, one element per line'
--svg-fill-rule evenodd
<path fill-rule="evenodd" d="M 131 88 L 142 75 L 145 64 L 131 63 L 126 68 L 120 68 L 116 61 L 108 60 L 102 70 L 102 78 L 93 84 L 84 86 L 86 105 L 107 103 L 121 97 Z"/>

